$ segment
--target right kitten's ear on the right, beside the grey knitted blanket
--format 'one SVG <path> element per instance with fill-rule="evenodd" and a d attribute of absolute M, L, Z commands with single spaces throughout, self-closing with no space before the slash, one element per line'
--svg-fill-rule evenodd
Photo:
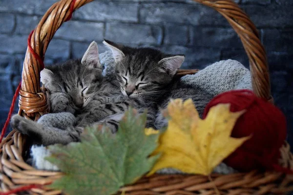
<path fill-rule="evenodd" d="M 163 72 L 167 72 L 170 75 L 175 75 L 177 70 L 182 65 L 184 59 L 185 59 L 184 55 L 167 57 L 167 58 L 161 59 L 159 61 L 159 65 L 161 65 L 161 70 Z"/>

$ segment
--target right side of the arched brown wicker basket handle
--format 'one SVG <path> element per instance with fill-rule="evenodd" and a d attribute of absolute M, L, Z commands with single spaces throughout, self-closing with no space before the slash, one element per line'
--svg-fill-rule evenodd
<path fill-rule="evenodd" d="M 264 46 L 249 16 L 233 0 L 194 0 L 222 14 L 240 37 L 249 58 L 252 89 L 256 96 L 272 102 L 269 66 Z"/>

